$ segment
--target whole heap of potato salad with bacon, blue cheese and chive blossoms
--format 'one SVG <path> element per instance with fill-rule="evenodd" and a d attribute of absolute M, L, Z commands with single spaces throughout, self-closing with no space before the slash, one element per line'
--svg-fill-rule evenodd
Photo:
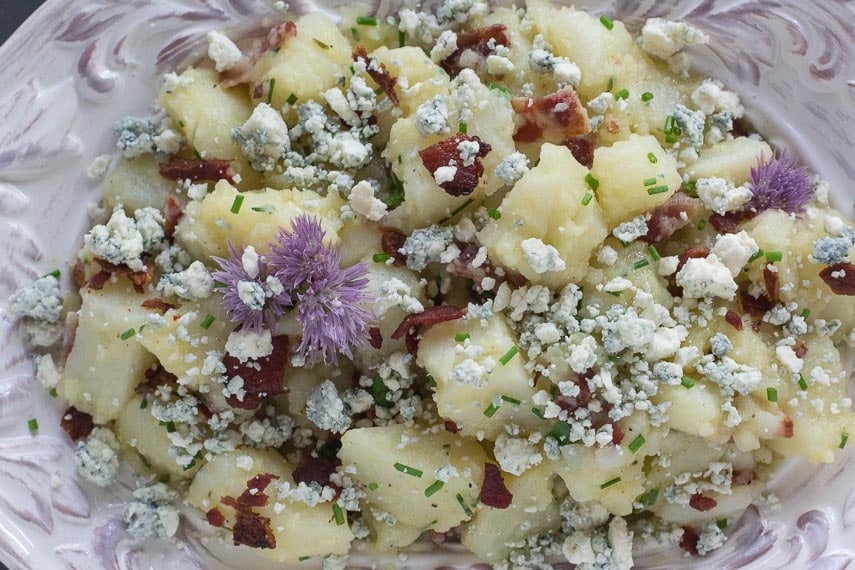
<path fill-rule="evenodd" d="M 691 72 L 703 31 L 354 10 L 211 32 L 9 299 L 83 484 L 136 471 L 131 535 L 178 540 L 183 503 L 284 563 L 628 569 L 835 460 L 855 229 Z"/>

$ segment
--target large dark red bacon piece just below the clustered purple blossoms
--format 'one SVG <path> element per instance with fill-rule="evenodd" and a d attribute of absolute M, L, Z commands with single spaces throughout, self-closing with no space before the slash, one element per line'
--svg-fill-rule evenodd
<path fill-rule="evenodd" d="M 288 337 L 285 335 L 273 337 L 273 353 L 264 358 L 249 360 L 241 363 L 234 356 L 227 354 L 223 358 L 229 377 L 243 378 L 243 389 L 246 391 L 243 400 L 237 396 L 229 396 L 226 401 L 233 408 L 254 410 L 265 400 L 284 393 L 285 366 L 288 363 Z"/>

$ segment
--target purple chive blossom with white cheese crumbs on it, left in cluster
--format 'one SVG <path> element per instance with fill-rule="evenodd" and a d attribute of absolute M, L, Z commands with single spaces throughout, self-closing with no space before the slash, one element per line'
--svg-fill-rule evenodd
<path fill-rule="evenodd" d="M 229 319 L 256 333 L 265 323 L 271 330 L 275 328 L 276 320 L 293 303 L 270 271 L 267 258 L 252 246 L 240 250 L 229 242 L 229 258 L 213 259 L 220 264 L 221 270 L 212 275 L 220 284 Z"/>

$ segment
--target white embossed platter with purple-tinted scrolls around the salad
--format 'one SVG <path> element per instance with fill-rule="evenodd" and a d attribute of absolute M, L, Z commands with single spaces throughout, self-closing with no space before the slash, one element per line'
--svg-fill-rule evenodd
<path fill-rule="evenodd" d="M 296 0 L 291 10 L 334 13 L 340 4 Z M 634 29 L 659 16 L 706 31 L 710 47 L 695 52 L 696 67 L 740 93 L 757 129 L 830 182 L 834 203 L 852 217 L 855 3 L 579 0 L 576 6 Z M 382 0 L 366 5 L 366 13 L 386 16 L 396 7 Z M 117 118 L 146 112 L 157 74 L 199 58 L 209 30 L 260 35 L 277 18 L 264 0 L 48 0 L 0 47 L 0 300 L 34 276 L 66 267 L 87 224 L 87 206 L 100 193 L 86 167 L 115 149 Z M 71 444 L 59 428 L 63 404 L 34 381 L 21 335 L 2 309 L 0 338 L 0 561 L 39 570 L 265 566 L 208 540 L 205 523 L 192 513 L 182 517 L 175 544 L 127 535 L 120 519 L 131 473 L 125 467 L 109 490 L 75 479 Z M 39 420 L 36 436 L 27 429 L 30 418 Z M 788 463 L 771 485 L 780 503 L 749 509 L 720 551 L 686 559 L 676 548 L 646 546 L 637 550 L 637 563 L 848 567 L 855 561 L 855 446 L 839 455 L 819 468 Z M 426 549 L 383 562 L 437 568 L 473 560 Z"/>

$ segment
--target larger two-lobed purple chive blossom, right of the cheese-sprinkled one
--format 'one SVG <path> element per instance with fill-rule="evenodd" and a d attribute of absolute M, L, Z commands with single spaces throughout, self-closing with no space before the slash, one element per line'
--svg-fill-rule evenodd
<path fill-rule="evenodd" d="M 363 264 L 339 268 L 341 253 L 323 243 L 320 222 L 308 215 L 292 220 L 272 244 L 271 269 L 286 289 L 296 294 L 297 316 L 303 327 L 298 352 L 306 363 L 338 362 L 338 354 L 353 356 L 352 347 L 366 342 L 370 314 L 366 299 L 368 270 Z"/>

